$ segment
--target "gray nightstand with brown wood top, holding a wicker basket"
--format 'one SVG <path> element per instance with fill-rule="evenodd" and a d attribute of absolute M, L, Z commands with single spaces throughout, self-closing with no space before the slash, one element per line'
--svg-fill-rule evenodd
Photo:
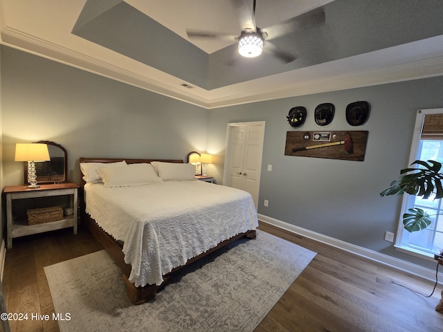
<path fill-rule="evenodd" d="M 8 249 L 12 248 L 12 239 L 24 237 L 30 234 L 48 232 L 50 230 L 60 230 L 72 227 L 74 234 L 77 234 L 77 207 L 78 207 L 78 187 L 76 183 L 58 183 L 51 185 L 40 185 L 38 188 L 28 188 L 26 185 L 9 185 L 3 189 L 6 196 L 6 230 Z M 71 216 L 63 216 L 62 220 L 28 225 L 26 220 L 15 220 L 12 216 L 12 201 L 17 199 L 35 199 L 51 196 L 70 196 L 70 208 L 73 210 Z M 50 199 L 48 199 L 50 201 Z"/>

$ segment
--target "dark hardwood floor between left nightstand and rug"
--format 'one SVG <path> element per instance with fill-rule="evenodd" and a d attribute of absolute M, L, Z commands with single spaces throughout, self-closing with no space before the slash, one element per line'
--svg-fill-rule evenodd
<path fill-rule="evenodd" d="M 79 227 L 78 234 L 66 228 L 14 239 L 12 248 L 6 251 L 3 271 L 3 292 L 8 313 L 38 313 L 50 315 L 50 319 L 31 320 L 28 316 L 28 320 L 10 321 L 10 330 L 59 331 L 57 321 L 52 320 L 55 311 L 44 266 L 101 249 L 96 239 L 82 227 Z"/>

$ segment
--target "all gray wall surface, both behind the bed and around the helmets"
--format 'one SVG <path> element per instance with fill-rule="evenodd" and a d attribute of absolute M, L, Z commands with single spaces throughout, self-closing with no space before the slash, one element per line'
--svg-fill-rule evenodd
<path fill-rule="evenodd" d="M 1 70 L 3 185 L 23 181 L 15 143 L 35 140 L 67 149 L 70 181 L 78 182 L 80 156 L 186 158 L 207 150 L 216 163 L 208 173 L 221 183 L 226 124 L 264 120 L 260 214 L 434 268 L 383 241 L 386 230 L 396 232 L 400 199 L 379 192 L 408 163 L 417 109 L 442 107 L 443 77 L 205 110 L 5 46 Z M 372 108 L 361 127 L 345 121 L 356 100 Z M 323 102 L 336 106 L 323 130 L 369 131 L 363 162 L 284 156 L 289 109 L 307 107 L 300 130 L 318 130 L 313 112 Z"/>

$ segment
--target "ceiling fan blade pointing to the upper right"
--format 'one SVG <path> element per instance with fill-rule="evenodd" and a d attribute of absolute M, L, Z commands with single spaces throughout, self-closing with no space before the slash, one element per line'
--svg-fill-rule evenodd
<path fill-rule="evenodd" d="M 325 23 L 325 11 L 319 7 L 305 14 L 288 19 L 280 24 L 275 24 L 269 28 L 263 28 L 262 32 L 268 36 L 266 39 L 273 39 L 291 33 L 295 30 L 303 30 Z"/>

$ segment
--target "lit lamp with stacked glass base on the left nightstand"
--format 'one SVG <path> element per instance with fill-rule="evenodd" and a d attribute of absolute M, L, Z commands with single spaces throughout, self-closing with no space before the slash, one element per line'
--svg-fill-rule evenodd
<path fill-rule="evenodd" d="M 15 145 L 15 161 L 28 162 L 28 188 L 38 188 L 35 175 L 36 161 L 49 161 L 48 145 L 42 143 L 17 143 Z"/>

